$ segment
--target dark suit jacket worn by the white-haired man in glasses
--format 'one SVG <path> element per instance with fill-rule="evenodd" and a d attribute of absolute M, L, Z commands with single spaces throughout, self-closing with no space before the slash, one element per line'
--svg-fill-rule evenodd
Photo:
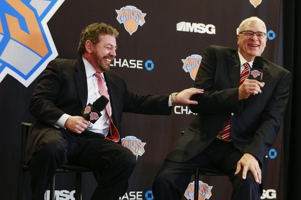
<path fill-rule="evenodd" d="M 265 155 L 277 138 L 288 101 L 291 73 L 264 60 L 262 93 L 238 101 L 240 60 L 235 49 L 209 46 L 195 78 L 194 87 L 204 94 L 192 97 L 198 113 L 177 141 L 167 160 L 187 161 L 202 152 L 231 119 L 230 134 L 241 153 L 248 152 L 264 164 Z M 264 168 L 264 167 L 263 167 Z"/>

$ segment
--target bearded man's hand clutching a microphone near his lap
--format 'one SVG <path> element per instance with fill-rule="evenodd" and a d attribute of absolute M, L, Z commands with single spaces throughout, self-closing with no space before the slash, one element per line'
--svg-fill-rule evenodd
<path fill-rule="evenodd" d="M 71 116 L 65 122 L 65 128 L 77 134 L 81 134 L 89 125 L 88 120 L 80 116 Z"/>

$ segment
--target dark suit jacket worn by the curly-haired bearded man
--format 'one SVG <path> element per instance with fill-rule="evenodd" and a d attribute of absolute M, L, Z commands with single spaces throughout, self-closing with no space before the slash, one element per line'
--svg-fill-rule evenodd
<path fill-rule="evenodd" d="M 122 112 L 171 114 L 171 107 L 168 108 L 169 95 L 144 96 L 131 93 L 124 80 L 111 70 L 104 73 L 104 78 L 110 96 L 112 120 L 120 138 L 123 137 L 120 127 Z M 78 60 L 55 59 L 48 64 L 30 101 L 30 113 L 38 120 L 29 129 L 25 163 L 31 158 L 40 136 L 54 129 L 53 124 L 64 113 L 82 115 L 82 109 L 87 106 L 87 97 L 87 76 L 81 57 Z"/>

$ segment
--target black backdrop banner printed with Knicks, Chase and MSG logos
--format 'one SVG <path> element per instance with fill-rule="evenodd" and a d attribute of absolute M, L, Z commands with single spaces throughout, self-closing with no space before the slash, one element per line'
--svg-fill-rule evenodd
<path fill-rule="evenodd" d="M 16 199 L 21 123 L 35 120 L 29 101 L 37 79 L 54 58 L 78 58 L 80 33 L 87 25 L 105 22 L 119 31 L 110 70 L 124 78 L 131 92 L 170 94 L 193 87 L 208 45 L 238 49 L 238 26 L 247 17 L 257 16 L 266 23 L 268 41 L 261 56 L 282 66 L 282 7 L 282 0 L 0 0 L 0 199 Z M 157 171 L 195 117 L 188 105 L 174 106 L 171 116 L 123 114 L 122 144 L 136 154 L 137 165 L 127 193 L 119 199 L 153 199 Z M 266 156 L 261 199 L 283 200 L 282 133 Z M 26 173 L 25 200 L 31 199 L 29 181 Z M 199 183 L 201 200 L 231 197 L 226 176 L 201 176 Z M 192 177 L 183 199 L 193 199 L 193 185 Z M 83 173 L 82 200 L 90 199 L 95 187 L 92 173 Z M 74 190 L 74 173 L 56 175 L 56 200 L 73 200 Z"/>

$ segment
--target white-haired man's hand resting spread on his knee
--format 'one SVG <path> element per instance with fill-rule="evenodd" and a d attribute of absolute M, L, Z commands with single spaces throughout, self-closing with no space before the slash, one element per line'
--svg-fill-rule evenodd
<path fill-rule="evenodd" d="M 241 167 L 244 168 L 242 171 L 243 179 L 246 179 L 247 172 L 250 170 L 255 178 L 256 183 L 261 184 L 261 169 L 255 156 L 253 156 L 251 153 L 245 153 L 238 161 L 234 175 L 240 172 Z"/>

